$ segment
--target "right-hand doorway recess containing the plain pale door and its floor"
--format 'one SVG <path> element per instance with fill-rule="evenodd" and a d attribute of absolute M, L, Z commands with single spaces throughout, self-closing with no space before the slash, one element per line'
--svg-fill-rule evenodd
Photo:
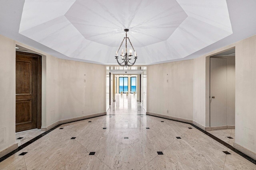
<path fill-rule="evenodd" d="M 207 61 L 207 60 L 206 60 Z M 209 57 L 209 128 L 233 145 L 235 136 L 235 48 Z"/>

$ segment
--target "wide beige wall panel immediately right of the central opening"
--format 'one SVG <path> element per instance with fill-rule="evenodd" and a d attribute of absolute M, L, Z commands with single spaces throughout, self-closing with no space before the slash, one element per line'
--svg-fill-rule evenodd
<path fill-rule="evenodd" d="M 193 119 L 193 60 L 147 66 L 146 76 L 147 112 Z"/>

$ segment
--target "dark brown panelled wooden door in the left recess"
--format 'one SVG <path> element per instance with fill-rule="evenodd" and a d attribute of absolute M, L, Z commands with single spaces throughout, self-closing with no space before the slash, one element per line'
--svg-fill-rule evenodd
<path fill-rule="evenodd" d="M 41 128 L 41 56 L 16 52 L 16 132 Z"/>

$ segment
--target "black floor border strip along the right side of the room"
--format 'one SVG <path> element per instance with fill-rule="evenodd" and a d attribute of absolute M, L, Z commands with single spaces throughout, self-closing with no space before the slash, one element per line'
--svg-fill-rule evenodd
<path fill-rule="evenodd" d="M 147 115 L 147 116 L 154 116 L 154 115 Z M 160 116 L 154 116 L 154 117 L 160 117 Z M 168 118 L 164 118 L 164 117 L 160 117 L 162 119 L 168 119 Z M 178 121 L 178 120 L 173 120 L 173 119 L 168 119 L 168 120 L 172 120 L 172 121 Z M 193 127 L 195 127 L 196 129 L 198 129 L 199 131 L 201 131 L 202 133 L 206 134 L 207 136 L 211 137 L 212 139 L 214 139 L 215 141 L 221 143 L 222 145 L 224 145 L 225 147 L 227 147 L 228 149 L 236 152 L 237 154 L 239 154 L 240 156 L 246 158 L 247 160 L 249 160 L 250 162 L 256 164 L 256 160 L 254 158 L 251 158 L 250 156 L 248 156 L 247 154 L 244 154 L 243 152 L 235 149 L 234 147 L 232 147 L 231 145 L 229 145 L 228 143 L 222 141 L 221 139 L 217 138 L 216 136 L 210 134 L 209 132 L 207 131 L 204 131 L 203 129 L 201 129 L 200 127 L 194 125 L 193 123 L 188 123 L 188 122 L 184 122 L 184 121 L 178 121 L 178 122 L 181 122 L 181 123 L 186 123 L 186 124 L 189 124 Z"/>

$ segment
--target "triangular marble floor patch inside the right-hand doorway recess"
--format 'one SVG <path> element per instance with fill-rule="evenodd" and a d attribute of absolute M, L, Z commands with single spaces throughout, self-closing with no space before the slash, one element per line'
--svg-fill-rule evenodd
<path fill-rule="evenodd" d="M 235 129 L 222 129 L 222 130 L 207 131 L 207 132 L 216 136 L 217 138 L 221 139 L 222 141 L 228 143 L 231 146 L 233 146 L 233 143 L 235 142 Z M 231 137 L 231 138 L 228 138 L 228 137 Z"/>

